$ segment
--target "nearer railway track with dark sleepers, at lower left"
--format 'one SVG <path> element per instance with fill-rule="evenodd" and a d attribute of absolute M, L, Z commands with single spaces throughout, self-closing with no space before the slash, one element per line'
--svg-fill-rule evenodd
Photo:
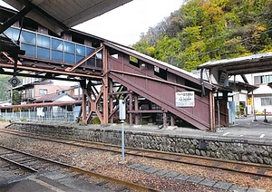
<path fill-rule="evenodd" d="M 42 172 L 42 171 L 55 171 L 61 168 L 67 168 L 70 170 L 69 174 L 83 174 L 89 175 L 91 177 L 95 177 L 100 179 L 100 182 L 97 184 L 99 187 L 103 187 L 103 185 L 114 186 L 113 191 L 131 191 L 131 189 L 137 189 L 141 191 L 158 191 L 151 187 L 144 187 L 138 184 L 134 184 L 125 180 L 111 178 L 106 175 L 102 175 L 90 170 L 86 170 L 83 168 L 78 168 L 73 165 L 69 165 L 63 162 L 55 161 L 50 158 L 43 158 L 40 156 L 36 156 L 34 154 L 30 154 L 18 149 L 12 149 L 9 147 L 5 147 L 0 145 L 0 158 L 5 160 L 6 162 L 15 165 L 15 167 L 23 168 L 25 171 L 30 173 Z M 6 165 L 5 165 L 6 166 Z M 75 172 L 74 174 L 71 171 Z M 102 179 L 102 180 L 101 180 Z M 118 187 L 116 187 L 116 185 Z"/>

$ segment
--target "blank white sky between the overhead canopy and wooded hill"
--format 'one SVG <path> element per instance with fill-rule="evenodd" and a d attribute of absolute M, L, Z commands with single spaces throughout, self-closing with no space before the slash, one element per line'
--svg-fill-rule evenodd
<path fill-rule="evenodd" d="M 178 10 L 183 0 L 133 0 L 74 28 L 124 45 L 140 40 L 141 33 Z M 0 0 L 0 5 L 5 3 Z"/>

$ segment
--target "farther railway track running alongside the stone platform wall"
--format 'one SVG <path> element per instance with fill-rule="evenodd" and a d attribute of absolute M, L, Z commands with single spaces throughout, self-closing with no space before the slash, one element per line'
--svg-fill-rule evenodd
<path fill-rule="evenodd" d="M 0 132 L 14 134 L 17 136 L 22 136 L 22 137 L 30 137 L 34 139 L 44 139 L 48 141 L 73 145 L 76 147 L 121 153 L 120 146 L 115 146 L 111 144 L 97 143 L 97 142 L 83 141 L 83 140 L 76 140 L 76 139 L 53 138 L 48 136 L 46 136 L 45 138 L 44 136 L 38 135 L 38 134 L 23 133 L 19 131 L 3 130 L 3 129 L 1 129 Z M 205 157 L 199 157 L 199 156 L 154 151 L 154 150 L 148 150 L 148 149 L 126 148 L 125 154 L 137 156 L 137 157 L 160 159 L 160 160 L 165 160 L 168 162 L 170 161 L 170 162 L 188 164 L 188 165 L 199 166 L 199 167 L 217 168 L 217 169 L 221 169 L 225 171 L 231 171 L 234 173 L 247 174 L 247 175 L 250 175 L 254 179 L 259 179 L 261 177 L 272 178 L 272 166 L 267 166 L 267 165 L 245 163 L 245 162 L 238 162 L 238 161 L 229 161 L 229 160 L 223 160 L 223 159 L 217 159 L 217 158 L 205 158 Z"/>

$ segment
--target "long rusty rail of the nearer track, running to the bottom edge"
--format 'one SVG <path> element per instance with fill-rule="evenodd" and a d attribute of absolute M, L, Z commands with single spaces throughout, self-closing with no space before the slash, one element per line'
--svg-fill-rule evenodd
<path fill-rule="evenodd" d="M 141 185 L 131 183 L 129 181 L 121 180 L 121 179 L 118 179 L 118 178 L 112 178 L 112 177 L 109 177 L 109 176 L 106 176 L 106 175 L 103 175 L 103 174 L 100 174 L 100 173 L 96 173 L 96 172 L 93 172 L 93 171 L 90 171 L 90 170 L 79 168 L 79 167 L 69 165 L 69 164 L 66 164 L 66 163 L 63 163 L 63 162 L 55 161 L 55 160 L 50 159 L 50 158 L 44 158 L 44 157 L 36 156 L 34 154 L 24 152 L 24 151 L 21 151 L 21 150 L 18 150 L 18 149 L 12 149 L 12 148 L 9 148 L 9 147 L 3 146 L 3 145 L 0 145 L 0 148 L 9 149 L 9 150 L 15 151 L 17 153 L 21 153 L 21 154 L 30 156 L 32 158 L 42 159 L 44 161 L 51 162 L 53 164 L 57 164 L 57 165 L 62 166 L 64 168 L 70 168 L 70 169 L 73 169 L 75 171 L 81 172 L 83 174 L 91 175 L 93 177 L 103 178 L 103 179 L 106 179 L 106 180 L 121 184 L 123 186 L 128 186 L 128 187 L 132 187 L 132 188 L 140 189 L 140 190 L 145 190 L 145 191 L 154 191 L 154 192 L 159 191 L 159 190 L 151 188 L 151 187 L 145 187 L 145 186 L 141 186 Z"/>

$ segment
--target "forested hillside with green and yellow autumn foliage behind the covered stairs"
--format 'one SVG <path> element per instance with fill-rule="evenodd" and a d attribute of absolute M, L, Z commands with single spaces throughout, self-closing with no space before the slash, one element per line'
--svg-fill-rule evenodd
<path fill-rule="evenodd" d="M 272 52 L 272 0 L 188 0 L 133 47 L 191 71 L 203 63 Z"/>

